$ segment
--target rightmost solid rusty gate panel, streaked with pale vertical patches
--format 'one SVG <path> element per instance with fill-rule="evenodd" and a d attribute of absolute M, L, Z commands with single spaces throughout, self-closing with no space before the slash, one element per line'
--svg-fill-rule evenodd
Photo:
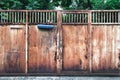
<path fill-rule="evenodd" d="M 117 69 L 117 26 L 94 25 L 92 29 L 92 69 L 109 72 Z"/>

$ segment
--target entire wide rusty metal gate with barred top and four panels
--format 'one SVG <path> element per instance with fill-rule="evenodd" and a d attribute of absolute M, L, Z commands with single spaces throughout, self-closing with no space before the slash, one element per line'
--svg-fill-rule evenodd
<path fill-rule="evenodd" d="M 0 75 L 119 75 L 119 22 L 119 10 L 1 10 Z"/>

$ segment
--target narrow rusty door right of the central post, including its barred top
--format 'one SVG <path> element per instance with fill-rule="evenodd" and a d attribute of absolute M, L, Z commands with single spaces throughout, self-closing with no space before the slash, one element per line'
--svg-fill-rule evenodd
<path fill-rule="evenodd" d="M 88 12 L 66 11 L 62 18 L 63 71 L 89 71 Z"/>

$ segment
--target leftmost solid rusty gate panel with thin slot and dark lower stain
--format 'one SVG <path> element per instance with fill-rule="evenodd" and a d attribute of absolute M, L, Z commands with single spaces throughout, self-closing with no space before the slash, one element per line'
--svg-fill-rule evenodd
<path fill-rule="evenodd" d="M 21 73 L 25 69 L 25 30 L 10 26 L 0 26 L 0 72 Z"/>

